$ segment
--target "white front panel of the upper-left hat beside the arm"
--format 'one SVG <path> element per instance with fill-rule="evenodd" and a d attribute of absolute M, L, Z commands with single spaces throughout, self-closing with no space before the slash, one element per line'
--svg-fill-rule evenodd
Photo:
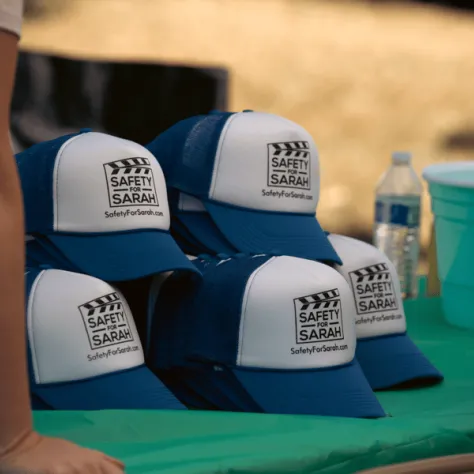
<path fill-rule="evenodd" d="M 163 172 L 141 145 L 103 133 L 67 141 L 54 171 L 54 228 L 60 232 L 168 230 Z"/>

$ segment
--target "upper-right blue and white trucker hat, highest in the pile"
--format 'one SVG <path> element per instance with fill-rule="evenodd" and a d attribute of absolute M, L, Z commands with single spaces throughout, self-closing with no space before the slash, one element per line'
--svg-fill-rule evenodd
<path fill-rule="evenodd" d="M 315 217 L 319 159 L 311 135 L 273 114 L 192 117 L 147 148 L 170 188 L 201 200 L 239 252 L 341 263 Z"/>

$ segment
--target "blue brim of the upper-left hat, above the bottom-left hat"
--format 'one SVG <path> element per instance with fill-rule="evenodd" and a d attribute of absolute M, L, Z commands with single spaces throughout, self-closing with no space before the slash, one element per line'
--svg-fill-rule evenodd
<path fill-rule="evenodd" d="M 167 232 L 56 233 L 47 237 L 80 271 L 106 281 L 177 270 L 199 273 Z"/>

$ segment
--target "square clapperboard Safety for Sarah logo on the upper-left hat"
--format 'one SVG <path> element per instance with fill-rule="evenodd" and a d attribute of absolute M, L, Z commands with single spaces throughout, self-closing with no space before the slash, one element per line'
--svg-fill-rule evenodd
<path fill-rule="evenodd" d="M 148 158 L 104 163 L 110 207 L 159 206 Z"/>

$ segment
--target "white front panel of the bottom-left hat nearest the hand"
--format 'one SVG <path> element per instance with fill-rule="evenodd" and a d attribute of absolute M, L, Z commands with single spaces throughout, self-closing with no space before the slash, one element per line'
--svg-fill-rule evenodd
<path fill-rule="evenodd" d="M 28 302 L 36 383 L 82 380 L 142 365 L 142 346 L 123 296 L 96 278 L 45 270 Z"/>

